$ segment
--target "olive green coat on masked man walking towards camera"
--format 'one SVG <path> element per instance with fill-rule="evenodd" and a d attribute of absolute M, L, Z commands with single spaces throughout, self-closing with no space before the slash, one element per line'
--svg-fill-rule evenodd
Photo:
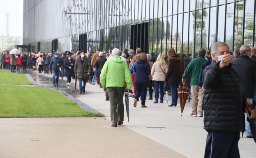
<path fill-rule="evenodd" d="M 81 62 L 81 55 L 78 55 L 76 57 L 76 62 L 75 62 L 75 74 L 77 78 L 83 78 L 83 79 L 88 79 L 88 72 L 91 72 L 92 66 L 87 57 L 85 56 L 85 59 L 83 61 L 83 65 Z"/>

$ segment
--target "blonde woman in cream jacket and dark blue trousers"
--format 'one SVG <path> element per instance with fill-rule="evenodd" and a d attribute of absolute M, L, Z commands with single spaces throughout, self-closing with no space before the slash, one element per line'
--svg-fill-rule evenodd
<path fill-rule="evenodd" d="M 159 54 L 157 57 L 157 61 L 153 64 L 151 70 L 152 80 L 154 82 L 155 87 L 155 102 L 158 103 L 159 98 L 159 88 L 160 88 L 160 103 L 164 102 L 164 81 L 165 75 L 167 72 L 167 65 L 164 60 L 164 56 Z"/>

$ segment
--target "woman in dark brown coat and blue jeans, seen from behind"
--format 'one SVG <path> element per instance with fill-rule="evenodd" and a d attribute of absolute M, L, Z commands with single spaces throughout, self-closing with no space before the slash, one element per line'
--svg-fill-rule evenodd
<path fill-rule="evenodd" d="M 176 106 L 178 102 L 178 91 L 180 81 L 182 79 L 181 72 L 181 57 L 176 53 L 173 48 L 168 49 L 168 71 L 166 73 L 166 79 L 171 87 L 172 102 L 168 106 Z"/>

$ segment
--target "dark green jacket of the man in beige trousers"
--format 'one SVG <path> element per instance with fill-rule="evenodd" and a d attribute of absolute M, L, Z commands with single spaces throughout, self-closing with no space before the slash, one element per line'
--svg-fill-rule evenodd
<path fill-rule="evenodd" d="M 189 74 L 192 73 L 190 85 L 198 85 L 199 73 L 203 63 L 207 61 L 205 57 L 198 56 L 193 59 L 187 66 L 182 78 L 186 79 Z"/>

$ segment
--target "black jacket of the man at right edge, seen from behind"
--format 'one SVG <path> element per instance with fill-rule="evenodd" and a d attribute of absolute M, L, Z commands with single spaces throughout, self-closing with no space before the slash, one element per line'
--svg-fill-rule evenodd
<path fill-rule="evenodd" d="M 232 60 L 232 68 L 240 76 L 241 92 L 246 98 L 254 97 L 254 86 L 256 84 L 256 63 L 247 55 L 240 55 Z"/>

